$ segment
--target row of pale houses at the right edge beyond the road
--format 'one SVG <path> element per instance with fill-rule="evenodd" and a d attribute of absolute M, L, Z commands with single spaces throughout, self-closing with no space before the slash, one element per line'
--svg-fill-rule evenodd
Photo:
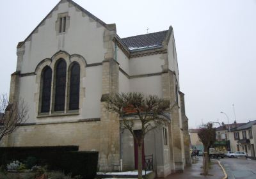
<path fill-rule="evenodd" d="M 255 157 L 255 144 L 256 120 L 231 129 L 230 145 L 234 152 L 246 152 L 249 157 Z"/>

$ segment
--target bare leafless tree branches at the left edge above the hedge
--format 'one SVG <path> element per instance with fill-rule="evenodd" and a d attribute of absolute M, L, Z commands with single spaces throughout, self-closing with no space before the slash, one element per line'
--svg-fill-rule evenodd
<path fill-rule="evenodd" d="M 0 97 L 0 141 L 28 120 L 28 107 L 24 100 L 9 102 L 7 95 Z"/>

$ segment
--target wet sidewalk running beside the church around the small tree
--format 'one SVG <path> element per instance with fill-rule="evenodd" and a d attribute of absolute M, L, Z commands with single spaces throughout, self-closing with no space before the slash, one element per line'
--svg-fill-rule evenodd
<path fill-rule="evenodd" d="M 202 157 L 198 157 L 199 160 L 196 161 L 196 164 L 192 164 L 191 166 L 185 167 L 184 173 L 173 173 L 171 175 L 166 176 L 164 179 L 173 179 L 173 178 L 179 178 L 179 179 L 193 179 L 193 178 L 209 178 L 209 179 L 222 179 L 225 175 L 221 169 L 221 167 L 218 164 L 218 160 L 211 159 L 212 165 L 211 169 L 209 169 L 208 176 L 200 175 L 202 173 Z"/>

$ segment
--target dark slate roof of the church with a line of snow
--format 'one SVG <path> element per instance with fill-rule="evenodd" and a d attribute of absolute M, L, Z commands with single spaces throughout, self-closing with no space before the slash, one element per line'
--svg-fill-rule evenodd
<path fill-rule="evenodd" d="M 141 51 L 145 49 L 161 48 L 168 31 L 148 33 L 145 35 L 136 35 L 122 38 L 122 42 L 130 51 Z"/>

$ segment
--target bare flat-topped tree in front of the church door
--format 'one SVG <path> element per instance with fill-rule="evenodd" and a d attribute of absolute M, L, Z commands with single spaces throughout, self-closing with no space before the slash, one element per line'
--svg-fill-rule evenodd
<path fill-rule="evenodd" d="M 131 132 L 138 146 L 138 178 L 142 178 L 142 146 L 145 135 L 154 128 L 166 125 L 163 112 L 170 110 L 174 105 L 164 101 L 156 95 L 145 97 L 143 93 L 115 93 L 109 95 L 108 111 L 119 114 L 124 128 Z M 171 106 L 171 107 L 170 107 Z M 134 114 L 132 117 L 126 114 Z M 134 130 L 134 122 L 140 123 L 140 130 Z"/>

